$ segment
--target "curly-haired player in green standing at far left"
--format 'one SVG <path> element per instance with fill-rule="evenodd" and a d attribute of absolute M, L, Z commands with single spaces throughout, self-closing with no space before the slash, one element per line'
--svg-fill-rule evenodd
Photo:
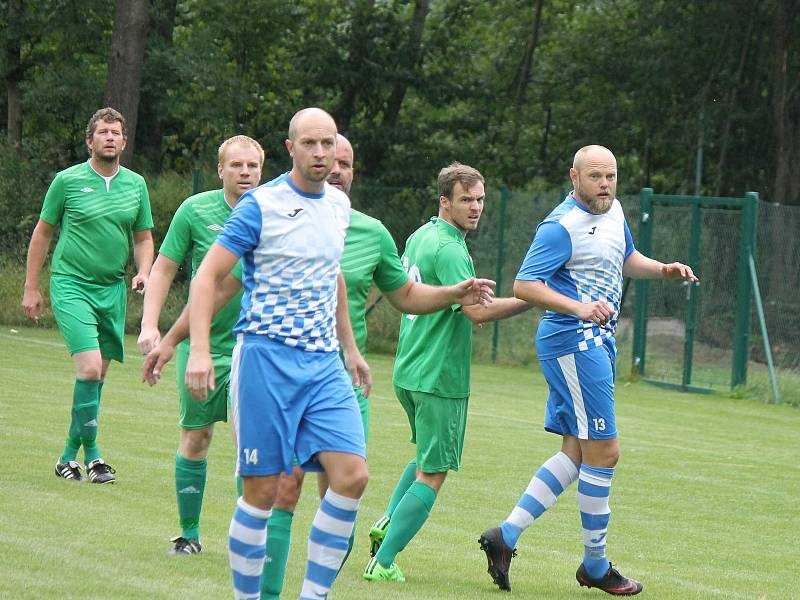
<path fill-rule="evenodd" d="M 125 265 L 133 237 L 137 273 L 132 289 L 144 293 L 153 263 L 153 217 L 144 179 L 119 164 L 127 139 L 125 119 L 113 108 L 92 115 L 86 127 L 85 163 L 59 172 L 44 198 L 28 247 L 22 308 L 33 321 L 44 310 L 42 266 L 57 226 L 50 267 L 50 303 L 75 365 L 72 421 L 55 474 L 85 479 L 77 461 L 83 446 L 92 483 L 112 483 L 114 469 L 97 446 L 100 393 L 111 360 L 122 362 Z"/>

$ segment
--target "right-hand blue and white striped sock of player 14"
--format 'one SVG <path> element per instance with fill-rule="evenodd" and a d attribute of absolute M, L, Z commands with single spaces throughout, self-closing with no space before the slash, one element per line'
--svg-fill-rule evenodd
<path fill-rule="evenodd" d="M 301 600 L 327 597 L 347 554 L 359 502 L 330 488 L 325 492 L 308 534 L 308 562 Z"/>

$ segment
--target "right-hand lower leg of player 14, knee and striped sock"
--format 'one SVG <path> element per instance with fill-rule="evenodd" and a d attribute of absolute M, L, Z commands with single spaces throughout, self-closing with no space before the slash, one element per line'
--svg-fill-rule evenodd
<path fill-rule="evenodd" d="M 367 486 L 367 462 L 345 452 L 320 452 L 318 459 L 328 474 L 329 487 L 320 503 L 308 536 L 305 599 L 326 598 L 347 554 L 358 507 Z"/>

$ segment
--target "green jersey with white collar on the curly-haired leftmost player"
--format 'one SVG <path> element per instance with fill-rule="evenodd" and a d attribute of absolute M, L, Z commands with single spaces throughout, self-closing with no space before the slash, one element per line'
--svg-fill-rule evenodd
<path fill-rule="evenodd" d="M 55 176 L 40 218 L 61 225 L 51 272 L 100 285 L 123 278 L 131 232 L 153 228 L 142 176 L 120 166 L 103 177 L 91 159 Z"/>

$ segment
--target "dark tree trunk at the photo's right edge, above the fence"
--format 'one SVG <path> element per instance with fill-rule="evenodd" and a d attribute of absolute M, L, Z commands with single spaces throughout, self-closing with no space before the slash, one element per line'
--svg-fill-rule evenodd
<path fill-rule="evenodd" d="M 800 74 L 790 72 L 789 56 L 799 0 L 783 0 L 775 14 L 775 69 L 772 110 L 775 121 L 776 161 L 772 198 L 800 204 Z"/>

